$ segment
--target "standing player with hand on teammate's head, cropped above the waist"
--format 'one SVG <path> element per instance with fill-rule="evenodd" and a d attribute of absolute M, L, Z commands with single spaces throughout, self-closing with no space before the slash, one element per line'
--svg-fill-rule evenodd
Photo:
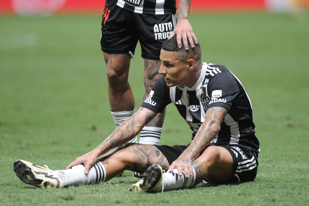
<path fill-rule="evenodd" d="M 191 0 L 179 0 L 177 22 L 176 0 L 106 0 L 100 42 L 107 67 L 108 98 L 116 127 L 134 114 L 135 101 L 128 75 L 138 41 L 145 63 L 144 100 L 161 77 L 158 71 L 163 41 L 177 34 L 179 47 L 181 38 L 189 39 L 189 45 L 184 41 L 185 49 L 197 43 L 188 21 L 190 4 Z M 164 115 L 165 111 L 159 113 L 142 129 L 139 143 L 159 144 Z M 137 138 L 131 142 L 137 142 Z"/>

